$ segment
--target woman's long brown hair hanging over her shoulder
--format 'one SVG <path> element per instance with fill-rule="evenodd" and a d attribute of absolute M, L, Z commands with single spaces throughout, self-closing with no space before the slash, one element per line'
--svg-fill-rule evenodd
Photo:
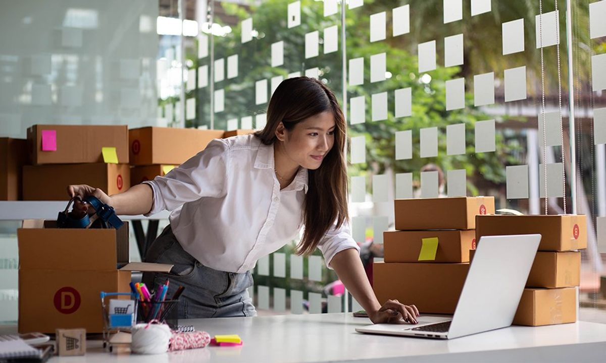
<path fill-rule="evenodd" d="M 335 94 L 319 80 L 295 77 L 282 81 L 269 102 L 267 124 L 255 132 L 265 145 L 276 142 L 280 122 L 287 131 L 308 117 L 330 111 L 335 117 L 335 144 L 318 169 L 307 171 L 303 220 L 305 232 L 299 241 L 299 255 L 310 255 L 336 220 L 340 227 L 348 220 L 347 167 L 344 160 L 345 117 Z"/>

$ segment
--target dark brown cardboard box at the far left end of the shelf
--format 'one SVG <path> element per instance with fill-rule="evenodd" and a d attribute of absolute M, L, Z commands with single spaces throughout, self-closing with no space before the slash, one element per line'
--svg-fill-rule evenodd
<path fill-rule="evenodd" d="M 0 200 L 21 200 L 27 140 L 0 137 Z"/>

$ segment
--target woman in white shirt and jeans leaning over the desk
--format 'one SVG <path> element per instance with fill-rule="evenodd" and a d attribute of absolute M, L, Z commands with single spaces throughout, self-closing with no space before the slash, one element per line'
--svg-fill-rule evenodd
<path fill-rule="evenodd" d="M 146 273 L 144 281 L 170 280 L 169 296 L 185 287 L 180 318 L 254 316 L 250 270 L 305 225 L 298 252 L 319 247 L 371 321 L 416 324 L 414 305 L 379 304 L 351 238 L 345 131 L 336 97 L 322 82 L 291 78 L 276 88 L 261 131 L 215 139 L 164 177 L 121 194 L 108 197 L 85 185 L 69 186 L 68 193 L 93 194 L 119 215 L 173 211 L 145 261 L 174 267 Z"/>

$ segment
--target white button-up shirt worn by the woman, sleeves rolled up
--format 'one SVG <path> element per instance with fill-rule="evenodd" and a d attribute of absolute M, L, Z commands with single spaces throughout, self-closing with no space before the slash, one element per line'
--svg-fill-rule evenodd
<path fill-rule="evenodd" d="M 173 234 L 185 251 L 211 269 L 246 272 L 259 258 L 298 238 L 303 223 L 307 169 L 280 190 L 273 145 L 253 135 L 215 139 L 164 177 L 145 181 L 153 207 L 170 214 Z M 318 247 L 330 264 L 355 248 L 348 221 L 333 223 Z M 313 228 L 313 226 L 307 226 Z"/>

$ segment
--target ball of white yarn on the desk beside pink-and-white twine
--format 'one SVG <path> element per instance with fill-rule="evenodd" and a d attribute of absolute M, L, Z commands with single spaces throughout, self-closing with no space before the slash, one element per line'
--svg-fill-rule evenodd
<path fill-rule="evenodd" d="M 165 353 L 171 335 L 166 324 L 137 324 L 132 329 L 130 350 L 137 354 Z"/>

